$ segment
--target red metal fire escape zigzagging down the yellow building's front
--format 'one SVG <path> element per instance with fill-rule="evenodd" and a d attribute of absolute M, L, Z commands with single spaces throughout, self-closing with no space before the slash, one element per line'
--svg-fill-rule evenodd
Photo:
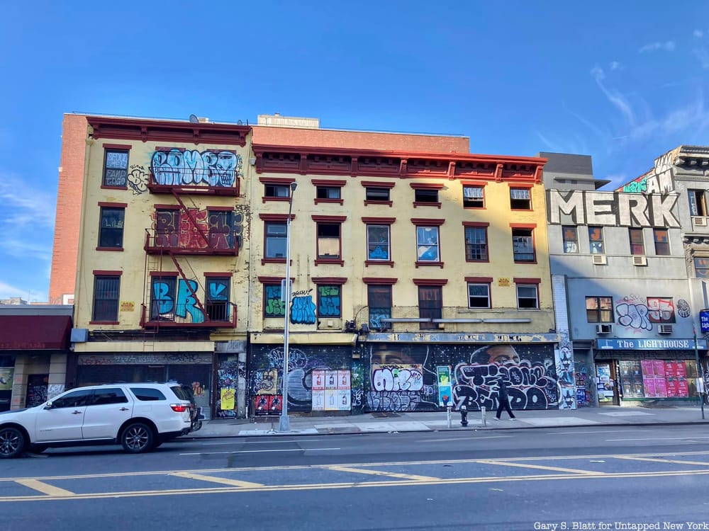
<path fill-rule="evenodd" d="M 151 171 L 147 188 L 152 194 L 171 195 L 177 205 L 156 205 L 155 225 L 145 229 L 145 277 L 146 282 L 150 277 L 150 282 L 147 282 L 142 304 L 141 326 L 145 329 L 234 328 L 237 323 L 236 304 L 219 297 L 209 297 L 206 285 L 194 280 L 197 275 L 189 258 L 238 256 L 237 231 L 233 224 L 225 222 L 233 216 L 233 209 L 219 207 L 212 211 L 204 206 L 200 208 L 193 199 L 194 196 L 237 197 L 240 192 L 237 171 L 234 171 L 230 186 L 160 184 Z M 217 221 L 213 222 L 210 218 Z M 163 270 L 164 263 L 168 261 L 172 261 L 177 276 L 172 271 Z M 185 273 L 186 268 L 191 270 L 193 278 Z M 176 282 L 177 278 L 182 282 Z M 156 287 L 156 279 L 157 282 L 164 282 L 163 287 Z M 199 295 L 199 292 L 204 295 Z M 181 296 L 178 297 L 178 294 Z"/>

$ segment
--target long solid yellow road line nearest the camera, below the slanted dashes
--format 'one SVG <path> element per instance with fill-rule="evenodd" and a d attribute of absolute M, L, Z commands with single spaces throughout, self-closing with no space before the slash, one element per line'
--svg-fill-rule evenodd
<path fill-rule="evenodd" d="M 240 492 L 263 492 L 263 491 L 314 491 L 325 489 L 352 489 L 364 487 L 387 487 L 387 486 L 412 486 L 412 485 L 451 485 L 451 484 L 481 484 L 481 483 L 503 483 L 508 481 L 549 481 L 564 479 L 627 479 L 644 477 L 663 476 L 688 476 L 688 475 L 708 475 L 709 470 L 683 470 L 673 472 L 618 472 L 608 474 L 544 474 L 537 476 L 503 476 L 503 477 L 474 477 L 457 479 L 439 479 L 437 481 L 372 481 L 369 483 L 330 483 L 330 484 L 301 484 L 301 485 L 264 485 L 253 489 L 243 489 L 240 487 L 224 487 L 211 489 L 174 489 L 162 491 L 128 491 L 128 492 L 101 492 L 89 494 L 73 494 L 72 496 L 6 496 L 0 497 L 0 502 L 7 501 L 45 501 L 45 500 L 86 500 L 97 498 L 136 498 L 140 496 L 184 496 L 186 494 L 211 494 L 211 493 L 240 493 Z"/>

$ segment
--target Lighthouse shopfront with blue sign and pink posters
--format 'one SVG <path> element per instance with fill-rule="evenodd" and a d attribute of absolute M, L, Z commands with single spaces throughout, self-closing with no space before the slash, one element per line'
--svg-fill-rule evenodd
<path fill-rule="evenodd" d="M 698 399 L 700 363 L 707 341 L 693 338 L 598 339 L 594 348 L 598 404 Z"/>

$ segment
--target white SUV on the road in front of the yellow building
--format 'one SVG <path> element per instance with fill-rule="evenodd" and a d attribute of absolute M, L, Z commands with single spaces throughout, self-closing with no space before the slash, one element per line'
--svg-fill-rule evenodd
<path fill-rule="evenodd" d="M 146 452 L 191 430 L 191 403 L 179 384 L 77 387 L 40 406 L 0 413 L 0 459 L 48 447 L 121 444 Z"/>

